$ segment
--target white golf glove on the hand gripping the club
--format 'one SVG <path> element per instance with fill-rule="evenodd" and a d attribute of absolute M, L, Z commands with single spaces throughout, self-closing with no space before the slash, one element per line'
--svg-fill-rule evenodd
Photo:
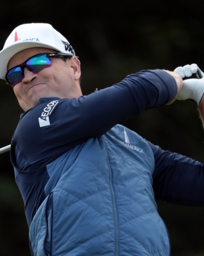
<path fill-rule="evenodd" d="M 199 105 L 204 93 L 204 73 L 200 70 L 198 65 L 194 63 L 183 67 L 177 67 L 174 71 L 184 80 L 183 87 L 179 92 L 177 99 L 192 99 Z"/>

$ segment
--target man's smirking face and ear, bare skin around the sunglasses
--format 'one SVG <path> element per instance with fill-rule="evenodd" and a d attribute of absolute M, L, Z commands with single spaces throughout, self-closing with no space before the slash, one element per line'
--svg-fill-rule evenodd
<path fill-rule="evenodd" d="M 53 53 L 52 49 L 33 47 L 17 54 L 8 63 L 8 70 L 40 53 Z M 32 61 L 32 59 L 31 59 Z M 39 98 L 76 98 L 82 95 L 79 86 L 80 62 L 77 57 L 66 59 L 50 58 L 50 65 L 39 71 L 22 66 L 23 76 L 15 77 L 13 87 L 21 108 L 26 111 L 39 103 Z M 12 77 L 13 78 L 13 77 Z M 11 79 L 12 81 L 12 79 Z"/>

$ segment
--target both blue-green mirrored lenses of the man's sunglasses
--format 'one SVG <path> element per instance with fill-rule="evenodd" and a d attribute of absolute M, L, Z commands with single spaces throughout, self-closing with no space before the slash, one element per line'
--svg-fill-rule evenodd
<path fill-rule="evenodd" d="M 52 66 L 50 59 L 46 54 L 39 54 L 31 57 L 26 62 L 22 63 L 20 66 L 10 69 L 6 74 L 6 81 L 11 87 L 20 83 L 24 77 L 21 71 L 22 68 L 27 68 L 34 74 L 37 74 L 40 70 Z"/>

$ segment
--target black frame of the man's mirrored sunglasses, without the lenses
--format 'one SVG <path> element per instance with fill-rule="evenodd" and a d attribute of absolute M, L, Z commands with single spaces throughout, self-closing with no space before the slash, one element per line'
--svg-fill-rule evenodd
<path fill-rule="evenodd" d="M 22 74 L 22 76 L 24 76 L 24 71 L 23 71 L 23 68 L 27 68 L 28 70 L 30 70 L 29 69 L 29 66 L 27 65 L 27 62 L 30 60 L 30 59 L 32 59 L 32 58 L 35 58 L 35 57 L 37 57 L 37 56 L 41 56 L 41 55 L 46 55 L 46 57 L 49 59 L 49 58 L 64 58 L 64 57 L 66 57 L 66 58 L 71 58 L 71 57 L 73 57 L 73 56 L 75 56 L 75 55 L 72 55 L 72 54 L 69 54 L 69 53 L 62 53 L 62 52 L 54 52 L 54 53 L 47 53 L 47 52 L 43 52 L 43 53 L 38 53 L 38 54 L 36 54 L 36 55 L 33 55 L 32 57 L 30 57 L 29 59 L 27 59 L 27 60 L 25 60 L 23 63 L 21 63 L 20 65 L 17 65 L 17 66 L 14 66 L 13 68 L 11 68 L 11 69 L 9 69 L 8 71 L 7 71 L 7 73 L 6 73 L 6 75 L 5 75 L 5 81 L 6 81 L 6 84 L 8 84 L 9 86 L 11 86 L 12 88 L 16 85 L 16 84 L 14 84 L 14 85 L 12 85 L 12 83 L 9 81 L 9 79 L 7 78 L 7 75 L 8 75 L 8 73 L 12 70 L 12 69 L 15 69 L 15 68 L 18 68 L 18 67 L 20 67 L 20 69 L 21 69 L 21 74 Z M 50 59 L 49 59 L 50 60 Z M 42 65 L 43 66 L 43 65 Z M 50 65 L 50 66 L 52 66 L 52 64 Z M 49 67 L 50 67 L 49 66 Z M 46 68 L 46 67 L 45 67 Z M 39 71 L 41 71 L 41 70 L 43 70 L 44 68 L 42 68 L 42 69 L 40 69 Z M 38 71 L 38 72 L 39 72 Z M 37 72 L 37 73 L 38 73 Z M 36 74 L 37 74 L 36 73 Z M 22 81 L 22 80 L 21 80 Z M 20 83 L 20 82 L 19 82 Z"/>

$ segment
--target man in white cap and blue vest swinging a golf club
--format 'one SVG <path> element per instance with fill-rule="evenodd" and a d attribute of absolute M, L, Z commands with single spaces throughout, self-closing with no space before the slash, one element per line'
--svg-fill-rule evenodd
<path fill-rule="evenodd" d="M 46 23 L 16 27 L 0 63 L 0 78 L 24 110 L 11 162 L 32 255 L 169 255 L 155 197 L 204 204 L 204 166 L 122 124 L 175 101 L 181 76 L 143 70 L 83 96 L 78 57 Z"/>

